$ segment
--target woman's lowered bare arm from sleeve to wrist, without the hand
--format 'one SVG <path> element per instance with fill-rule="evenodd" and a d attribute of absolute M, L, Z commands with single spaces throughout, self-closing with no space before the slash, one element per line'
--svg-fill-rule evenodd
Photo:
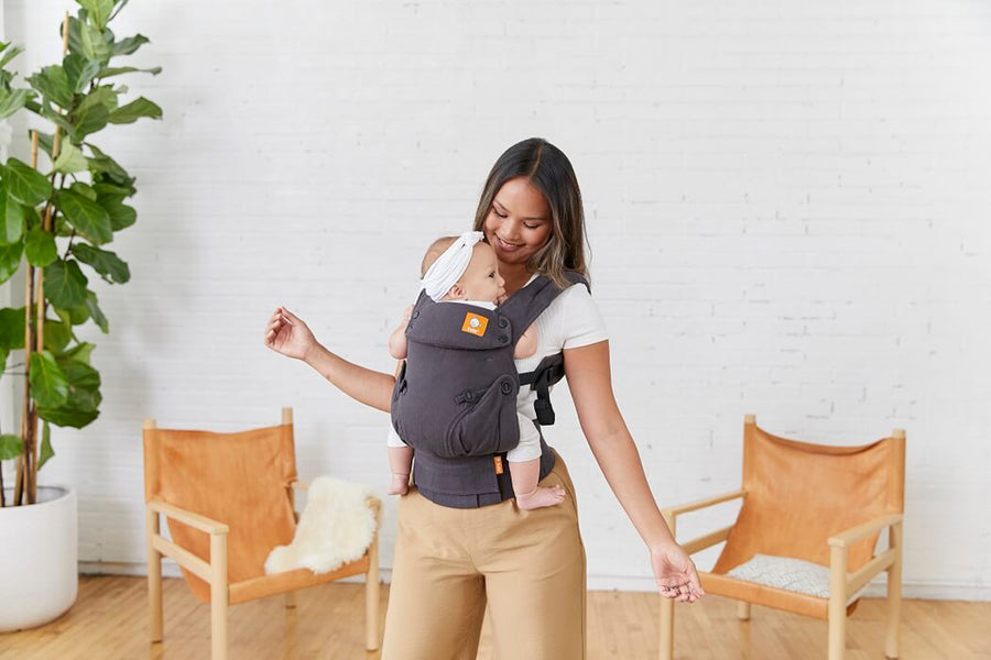
<path fill-rule="evenodd" d="M 578 422 L 609 487 L 649 547 L 673 542 L 612 393 L 609 342 L 565 349 L 564 360 Z"/>

